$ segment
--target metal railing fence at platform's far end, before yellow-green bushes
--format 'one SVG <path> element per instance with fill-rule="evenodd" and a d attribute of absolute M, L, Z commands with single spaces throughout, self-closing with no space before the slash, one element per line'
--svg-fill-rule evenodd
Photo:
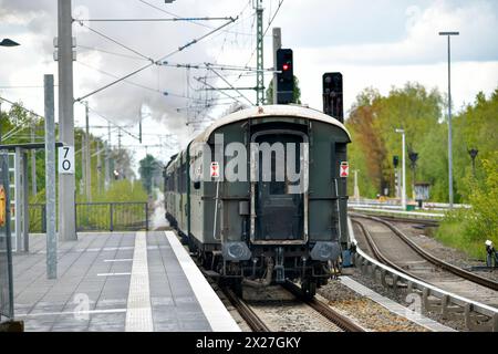
<path fill-rule="evenodd" d="M 44 204 L 31 204 L 30 232 L 45 232 Z M 147 202 L 77 202 L 77 231 L 148 230 Z"/>

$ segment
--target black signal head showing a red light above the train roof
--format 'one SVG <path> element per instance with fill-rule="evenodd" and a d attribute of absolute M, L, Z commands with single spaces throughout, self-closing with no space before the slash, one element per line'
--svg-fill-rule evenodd
<path fill-rule="evenodd" d="M 277 50 L 277 104 L 291 103 L 294 97 L 294 65 L 292 50 Z"/>

